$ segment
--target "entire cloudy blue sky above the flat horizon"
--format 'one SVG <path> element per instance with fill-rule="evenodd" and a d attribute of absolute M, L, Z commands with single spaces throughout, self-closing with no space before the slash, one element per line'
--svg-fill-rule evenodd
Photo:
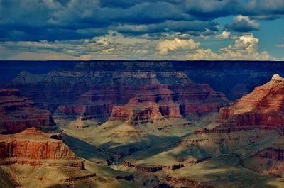
<path fill-rule="evenodd" d="M 284 0 L 0 0 L 0 60 L 284 60 Z"/>

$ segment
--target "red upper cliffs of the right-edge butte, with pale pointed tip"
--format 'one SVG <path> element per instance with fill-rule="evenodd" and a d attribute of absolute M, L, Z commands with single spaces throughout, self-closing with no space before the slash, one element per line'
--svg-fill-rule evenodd
<path fill-rule="evenodd" d="M 274 74 L 271 81 L 220 110 L 223 126 L 259 126 L 279 128 L 284 132 L 284 79 Z"/>

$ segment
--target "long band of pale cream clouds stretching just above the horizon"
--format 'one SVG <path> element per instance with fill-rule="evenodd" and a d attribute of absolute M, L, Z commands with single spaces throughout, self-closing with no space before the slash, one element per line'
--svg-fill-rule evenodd
<path fill-rule="evenodd" d="M 153 40 L 110 31 L 87 40 L 0 42 L 0 51 L 10 60 L 275 60 L 268 52 L 259 52 L 258 38 L 251 33 L 234 36 L 234 43 L 217 52 L 180 35 Z"/>

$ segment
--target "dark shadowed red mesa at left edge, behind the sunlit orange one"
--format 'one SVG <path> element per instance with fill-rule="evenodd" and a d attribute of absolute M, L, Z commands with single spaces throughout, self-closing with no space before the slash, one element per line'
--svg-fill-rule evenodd
<path fill-rule="evenodd" d="M 18 133 L 32 126 L 43 131 L 57 128 L 50 111 L 39 109 L 21 97 L 18 89 L 0 89 L 0 132 Z"/>

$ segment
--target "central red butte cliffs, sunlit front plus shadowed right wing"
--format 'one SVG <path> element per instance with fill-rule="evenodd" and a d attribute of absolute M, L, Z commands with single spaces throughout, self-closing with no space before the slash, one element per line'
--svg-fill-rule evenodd
<path fill-rule="evenodd" d="M 124 106 L 114 107 L 110 121 L 129 125 L 154 122 L 163 118 L 186 118 L 193 114 L 217 112 L 229 101 L 208 85 L 146 85 Z"/>

